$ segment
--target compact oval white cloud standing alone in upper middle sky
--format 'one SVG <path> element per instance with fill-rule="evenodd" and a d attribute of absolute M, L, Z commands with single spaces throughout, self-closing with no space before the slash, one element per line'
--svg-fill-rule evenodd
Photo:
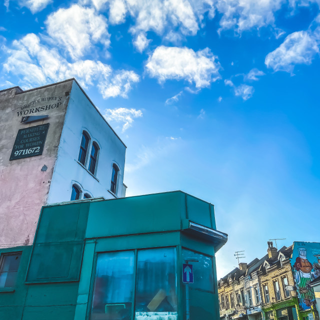
<path fill-rule="evenodd" d="M 161 45 L 149 56 L 145 68 L 159 82 L 184 79 L 200 88 L 220 78 L 220 64 L 215 59 L 216 56 L 208 48 L 194 52 L 186 47 Z"/>

